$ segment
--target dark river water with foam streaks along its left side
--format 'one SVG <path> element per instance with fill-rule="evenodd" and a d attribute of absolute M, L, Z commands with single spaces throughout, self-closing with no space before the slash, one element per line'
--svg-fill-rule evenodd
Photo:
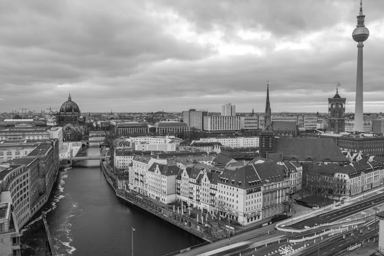
<path fill-rule="evenodd" d="M 96 144 L 96 143 L 95 143 Z M 90 146 L 80 154 L 98 155 Z M 98 160 L 60 170 L 56 187 L 43 207 L 60 255 L 163 255 L 203 241 L 116 197 Z M 34 216 L 22 232 L 22 255 L 46 255 L 45 231 Z"/>

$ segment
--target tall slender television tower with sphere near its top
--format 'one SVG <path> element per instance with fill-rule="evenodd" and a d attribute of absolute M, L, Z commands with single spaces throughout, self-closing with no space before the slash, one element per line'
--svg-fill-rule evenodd
<path fill-rule="evenodd" d="M 352 32 L 352 38 L 357 42 L 357 76 L 356 76 L 356 101 L 355 101 L 355 131 L 364 132 L 364 118 L 362 112 L 362 42 L 368 39 L 369 30 L 364 25 L 366 15 L 362 14 L 362 0 L 360 12 L 357 15 L 357 26 Z"/>

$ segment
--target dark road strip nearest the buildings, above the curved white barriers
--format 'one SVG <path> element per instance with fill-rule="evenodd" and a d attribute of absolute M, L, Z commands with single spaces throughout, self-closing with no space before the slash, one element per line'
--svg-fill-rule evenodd
<path fill-rule="evenodd" d="M 291 226 L 295 228 L 305 229 L 305 226 L 312 227 L 314 225 L 319 225 L 323 223 L 335 222 L 347 218 L 348 216 L 354 215 L 362 210 L 372 208 L 375 205 L 382 204 L 383 202 L 384 193 L 364 199 L 364 201 L 345 206 L 338 210 L 325 212 L 324 214 L 319 214 L 303 221 L 296 222 Z"/>

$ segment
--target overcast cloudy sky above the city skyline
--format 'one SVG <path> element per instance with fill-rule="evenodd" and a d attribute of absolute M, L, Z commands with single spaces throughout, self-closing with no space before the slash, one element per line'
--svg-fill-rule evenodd
<path fill-rule="evenodd" d="M 384 110 L 384 1 L 363 3 L 364 111 Z M 0 112 L 354 111 L 358 0 L 0 0 Z"/>

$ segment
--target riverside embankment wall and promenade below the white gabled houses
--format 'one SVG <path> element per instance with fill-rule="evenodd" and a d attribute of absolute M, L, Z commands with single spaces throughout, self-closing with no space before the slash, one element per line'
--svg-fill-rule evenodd
<path fill-rule="evenodd" d="M 133 204 L 147 212 L 150 212 L 151 214 L 156 215 L 157 217 L 167 221 L 168 223 L 173 224 L 179 228 L 182 228 L 191 234 L 194 234 L 195 236 L 203 239 L 206 242 L 212 243 L 214 241 L 213 238 L 207 236 L 203 232 L 203 229 L 199 228 L 199 230 L 197 230 L 189 226 L 188 222 L 184 218 L 182 217 L 171 218 L 171 216 L 169 215 L 169 212 L 163 209 L 161 206 L 152 204 L 151 202 L 148 202 L 147 200 L 143 199 L 140 196 L 127 193 L 127 191 L 124 191 L 122 189 L 118 189 L 117 181 L 111 175 L 109 175 L 108 167 L 106 166 L 106 163 L 103 161 L 100 161 L 100 167 L 102 169 L 102 172 L 106 181 L 111 185 L 111 187 L 115 191 L 116 196 L 118 198 L 126 202 L 129 202 L 130 204 Z"/>

